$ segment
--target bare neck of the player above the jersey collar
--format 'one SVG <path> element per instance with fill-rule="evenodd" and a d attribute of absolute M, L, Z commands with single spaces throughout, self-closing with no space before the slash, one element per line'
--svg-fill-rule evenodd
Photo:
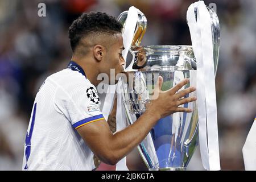
<path fill-rule="evenodd" d="M 88 57 L 84 58 L 77 58 L 76 56 L 73 56 L 72 61 L 75 61 L 77 64 L 80 65 L 80 67 L 84 70 L 86 78 L 94 85 L 97 86 L 101 80 L 97 80 L 98 74 L 100 73 L 98 71 L 97 65 L 94 63 L 94 60 L 90 60 Z"/>

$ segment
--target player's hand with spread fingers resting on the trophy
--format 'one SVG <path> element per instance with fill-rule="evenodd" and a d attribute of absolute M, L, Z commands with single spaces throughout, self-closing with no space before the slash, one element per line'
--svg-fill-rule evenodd
<path fill-rule="evenodd" d="M 195 87 L 190 86 L 187 89 L 178 92 L 184 85 L 189 82 L 189 79 L 184 79 L 175 85 L 173 88 L 162 91 L 163 77 L 159 76 L 158 82 L 154 89 L 153 99 L 147 105 L 147 112 L 154 113 L 160 118 L 167 117 L 176 112 L 191 113 L 193 110 L 189 108 L 179 107 L 188 102 L 196 101 L 196 97 L 183 98 L 187 94 L 194 92 Z"/>

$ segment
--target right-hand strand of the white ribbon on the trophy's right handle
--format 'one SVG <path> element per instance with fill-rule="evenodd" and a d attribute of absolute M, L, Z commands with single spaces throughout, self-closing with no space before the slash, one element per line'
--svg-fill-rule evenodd
<path fill-rule="evenodd" d="M 212 28 L 210 14 L 203 1 L 199 2 L 199 22 L 201 23 L 201 41 L 204 60 L 205 100 L 207 111 L 207 137 L 210 170 L 220 170 L 218 148 L 217 103 L 214 76 Z"/>

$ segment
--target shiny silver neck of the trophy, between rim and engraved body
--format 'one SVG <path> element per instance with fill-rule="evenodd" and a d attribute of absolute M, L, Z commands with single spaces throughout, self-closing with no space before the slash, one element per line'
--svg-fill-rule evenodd
<path fill-rule="evenodd" d="M 131 47 L 133 69 L 141 71 L 168 71 L 196 69 L 192 46 Z"/>

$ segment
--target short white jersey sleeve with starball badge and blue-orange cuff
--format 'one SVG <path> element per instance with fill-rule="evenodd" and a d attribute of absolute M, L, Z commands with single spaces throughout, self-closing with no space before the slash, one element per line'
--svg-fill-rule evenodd
<path fill-rule="evenodd" d="M 100 97 L 92 84 L 77 84 L 72 88 L 59 86 L 56 90 L 55 108 L 75 129 L 104 119 L 100 104 Z"/>

